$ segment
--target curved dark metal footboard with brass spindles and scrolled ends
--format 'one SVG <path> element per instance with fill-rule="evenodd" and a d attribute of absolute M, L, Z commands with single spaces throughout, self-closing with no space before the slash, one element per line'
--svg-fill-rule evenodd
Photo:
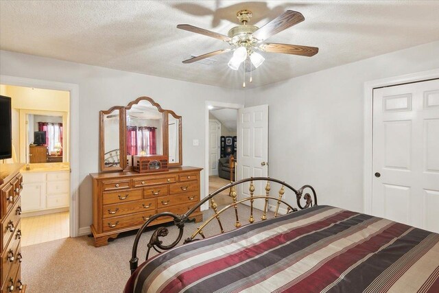
<path fill-rule="evenodd" d="M 265 195 L 255 196 L 254 195 L 254 191 L 255 191 L 254 181 L 261 181 L 261 180 L 267 181 L 267 183 L 265 185 Z M 237 200 L 236 186 L 242 185 L 242 184 L 249 182 L 249 181 L 250 181 L 250 187 L 248 188 L 248 191 L 250 191 L 250 196 L 247 198 L 243 198 L 241 200 Z M 275 198 L 274 196 L 270 196 L 270 190 L 271 190 L 270 183 L 281 184 L 281 189 L 279 189 L 279 191 L 278 191 L 277 198 Z M 226 211 L 230 208 L 235 209 L 235 219 L 236 219 L 235 228 L 239 228 L 241 226 L 241 222 L 239 222 L 238 204 L 240 204 L 242 202 L 250 201 L 250 216 L 248 218 L 248 222 L 250 224 L 252 222 L 254 222 L 254 216 L 253 216 L 253 202 L 254 202 L 254 200 L 264 200 L 265 201 L 263 211 L 262 211 L 263 213 L 261 216 L 261 220 L 267 220 L 268 200 L 276 200 L 277 201 L 276 209 L 274 211 L 274 218 L 276 218 L 278 216 L 278 211 L 279 211 L 279 207 L 281 204 L 285 204 L 287 206 L 287 213 L 293 213 L 294 211 L 298 211 L 298 209 L 296 209 L 295 207 L 292 207 L 289 203 L 287 203 L 283 199 L 283 195 L 285 194 L 285 187 L 287 189 L 292 190 L 294 192 L 294 194 L 296 194 L 296 202 L 297 202 L 297 206 L 299 209 L 307 209 L 308 207 L 312 207 L 313 205 L 317 205 L 316 191 L 313 189 L 313 187 L 311 187 L 311 185 L 304 185 L 300 189 L 296 190 L 291 185 L 288 185 L 287 183 L 285 183 L 281 180 L 278 180 L 278 179 L 269 178 L 269 177 L 254 177 L 254 178 L 246 178 L 246 179 L 242 179 L 239 181 L 235 181 L 233 183 L 225 185 L 224 187 L 221 187 L 220 189 L 217 189 L 217 191 L 213 192 L 212 194 L 209 194 L 209 196 L 206 196 L 206 198 L 201 200 L 198 204 L 196 204 L 194 207 L 192 207 L 192 209 L 190 209 L 189 211 L 187 211 L 186 213 L 184 213 L 182 215 L 176 215 L 176 214 L 170 213 L 170 212 L 158 213 L 156 215 L 153 215 L 152 217 L 150 217 L 149 220 L 147 220 L 147 222 L 145 222 L 145 224 L 143 224 L 143 226 L 141 226 L 141 228 L 139 228 L 139 231 L 137 232 L 136 238 L 134 239 L 134 244 L 132 246 L 132 256 L 130 259 L 131 273 L 133 273 L 134 270 L 137 269 L 137 266 L 139 263 L 139 258 L 137 257 L 137 247 L 139 245 L 139 240 L 141 238 L 141 235 L 143 234 L 143 232 L 145 232 L 147 226 L 152 221 L 156 220 L 157 218 L 161 218 L 161 217 L 174 218 L 174 225 L 177 226 L 179 229 L 178 237 L 171 244 L 164 245 L 163 242 L 159 238 L 167 236 L 169 231 L 165 226 L 160 226 L 160 227 L 156 228 L 154 233 L 152 233 L 150 242 L 147 244 L 147 253 L 146 253 L 145 260 L 148 259 L 149 255 L 150 255 L 151 248 L 156 250 L 156 252 L 158 252 L 158 253 L 162 253 L 165 250 L 169 250 L 171 248 L 174 248 L 182 239 L 182 235 L 183 235 L 184 228 L 185 228 L 185 222 L 189 222 L 189 218 L 191 216 L 191 213 L 193 213 L 193 211 L 198 209 L 198 207 L 200 207 L 202 204 L 204 204 L 207 201 L 210 201 L 211 208 L 213 209 L 214 214 L 209 219 L 204 221 L 196 229 L 196 231 L 191 235 L 191 237 L 188 237 L 187 239 L 185 239 L 184 244 L 187 244 L 188 242 L 192 242 L 194 240 L 198 240 L 198 239 L 195 239 L 195 237 L 197 235 L 200 235 L 202 238 L 205 238 L 204 233 L 203 233 L 203 228 L 207 224 L 209 224 L 209 222 L 213 221 L 214 219 L 217 220 L 217 223 L 219 225 L 219 230 L 221 231 L 221 233 L 224 233 L 224 228 L 223 228 L 223 225 L 222 225 L 222 222 L 221 222 L 219 216 L 224 211 Z M 222 192 L 226 189 L 230 189 L 229 195 L 231 196 L 233 203 L 226 205 L 226 207 L 224 207 L 218 211 L 217 204 L 215 203 L 215 200 L 213 198 L 217 194 L 219 194 L 220 192 Z M 307 193 L 307 192 L 304 194 L 304 191 L 307 189 L 309 189 L 311 191 L 311 194 Z M 303 205 L 300 202 L 302 200 L 302 198 L 303 198 L 303 200 L 305 200 L 305 204 L 303 204 Z"/>

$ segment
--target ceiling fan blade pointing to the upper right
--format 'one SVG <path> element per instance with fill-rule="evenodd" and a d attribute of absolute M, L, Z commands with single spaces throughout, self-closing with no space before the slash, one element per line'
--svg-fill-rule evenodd
<path fill-rule="evenodd" d="M 270 36 L 277 34 L 278 32 L 282 32 L 286 30 L 288 27 L 292 27 L 302 21 L 305 21 L 305 17 L 300 12 L 296 12 L 293 10 L 287 10 L 283 12 L 280 16 L 277 16 L 276 19 L 270 21 L 259 30 L 253 33 L 253 37 L 258 40 L 266 40 L 270 38 Z"/>

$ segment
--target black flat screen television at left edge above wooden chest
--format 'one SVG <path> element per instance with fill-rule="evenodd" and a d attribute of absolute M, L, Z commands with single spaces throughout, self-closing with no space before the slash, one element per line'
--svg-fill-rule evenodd
<path fill-rule="evenodd" d="M 0 159 L 12 157 L 11 98 L 0 95 Z"/>

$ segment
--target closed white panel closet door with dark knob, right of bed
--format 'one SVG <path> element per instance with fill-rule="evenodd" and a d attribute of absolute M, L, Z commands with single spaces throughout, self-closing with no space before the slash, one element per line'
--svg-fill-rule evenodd
<path fill-rule="evenodd" d="M 373 91 L 372 213 L 439 232 L 439 80 Z"/>

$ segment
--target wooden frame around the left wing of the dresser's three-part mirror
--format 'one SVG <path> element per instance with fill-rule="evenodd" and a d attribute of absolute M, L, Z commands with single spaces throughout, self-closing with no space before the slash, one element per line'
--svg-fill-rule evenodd
<path fill-rule="evenodd" d="M 104 137 L 104 117 L 111 114 L 114 110 L 119 110 L 119 166 L 105 166 L 105 137 Z M 108 110 L 99 111 L 99 165 L 101 172 L 123 171 L 126 167 L 125 142 L 123 139 L 123 121 L 125 119 L 125 111 L 123 106 L 114 106 Z M 123 159 L 125 158 L 125 159 Z"/>

